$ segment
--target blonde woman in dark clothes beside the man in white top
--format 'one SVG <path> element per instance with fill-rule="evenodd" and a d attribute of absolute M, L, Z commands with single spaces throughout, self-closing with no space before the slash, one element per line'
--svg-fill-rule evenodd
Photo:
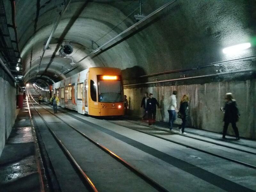
<path fill-rule="evenodd" d="M 183 95 L 181 101 L 180 101 L 180 110 L 178 113 L 178 117 L 182 120 L 182 124 L 180 127 L 180 133 L 187 135 L 184 132 L 185 129 L 185 124 L 187 122 L 187 114 L 186 114 L 186 109 L 188 109 L 188 95 Z"/>

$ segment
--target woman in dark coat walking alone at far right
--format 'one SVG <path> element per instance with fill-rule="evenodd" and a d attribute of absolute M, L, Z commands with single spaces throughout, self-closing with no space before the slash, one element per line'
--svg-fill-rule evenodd
<path fill-rule="evenodd" d="M 226 134 L 228 130 L 228 124 L 231 123 L 232 128 L 235 131 L 236 134 L 236 140 L 239 140 L 239 132 L 236 127 L 236 122 L 238 121 L 238 118 L 240 117 L 239 110 L 236 105 L 236 100 L 233 99 L 232 93 L 226 93 L 225 95 L 225 106 L 220 108 L 221 111 L 224 112 L 224 126 L 223 126 L 223 134 L 222 139 L 226 139 Z"/>

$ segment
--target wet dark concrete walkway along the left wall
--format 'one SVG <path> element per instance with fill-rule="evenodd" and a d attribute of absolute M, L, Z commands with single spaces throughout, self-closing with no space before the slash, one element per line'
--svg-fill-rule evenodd
<path fill-rule="evenodd" d="M 0 191 L 40 191 L 27 103 L 23 106 L 0 157 Z"/>

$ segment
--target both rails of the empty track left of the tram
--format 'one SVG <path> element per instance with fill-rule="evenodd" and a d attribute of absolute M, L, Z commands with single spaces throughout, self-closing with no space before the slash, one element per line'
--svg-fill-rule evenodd
<path fill-rule="evenodd" d="M 30 97 L 33 99 L 32 95 L 29 92 Z M 30 98 L 29 98 L 30 100 Z M 34 99 L 33 99 L 34 100 Z M 34 100 L 34 102 L 36 102 Z M 31 102 L 32 106 L 35 108 L 34 104 Z M 36 102 L 37 103 L 37 102 Z M 38 104 L 38 103 L 37 103 Z M 39 104 L 38 104 L 39 105 Z M 88 137 L 87 135 L 85 135 L 83 132 L 79 131 L 78 129 L 76 129 L 74 126 L 72 126 L 71 124 L 69 124 L 67 121 L 64 121 L 62 118 L 60 118 L 59 116 L 53 114 L 51 111 L 49 111 L 48 109 L 44 108 L 43 106 L 39 105 L 40 107 L 42 107 L 44 110 L 46 110 L 47 112 L 49 112 L 52 116 L 57 117 L 58 119 L 60 119 L 61 122 L 65 123 L 66 125 L 68 125 L 70 128 L 72 128 L 74 131 L 76 131 L 77 133 L 79 133 L 80 135 L 82 135 L 85 139 L 89 140 L 91 143 L 93 143 L 95 146 L 97 146 L 98 148 L 100 148 L 101 150 L 103 150 L 105 153 L 107 153 L 108 155 L 110 155 L 111 157 L 113 157 L 116 161 L 118 161 L 119 163 L 123 164 L 127 169 L 129 169 L 130 171 L 132 171 L 135 175 L 137 175 L 138 177 L 140 177 L 142 180 L 144 180 L 146 183 L 148 183 L 152 188 L 154 188 L 157 191 L 168 191 L 166 188 L 164 188 L 163 186 L 161 186 L 160 184 L 158 184 L 156 181 L 152 180 L 151 178 L 149 178 L 147 175 L 145 175 L 143 172 L 141 172 L 140 170 L 138 170 L 137 168 L 135 168 L 134 166 L 132 166 L 131 164 L 129 164 L 128 162 L 126 162 L 124 159 L 122 159 L 121 157 L 119 157 L 118 155 L 116 155 L 114 152 L 110 151 L 108 148 L 106 148 L 105 146 L 97 143 L 96 141 L 94 141 L 93 139 L 91 139 L 90 137 Z M 49 129 L 49 131 L 52 133 L 53 137 L 55 138 L 55 140 L 59 143 L 60 147 L 66 152 L 67 156 L 69 157 L 69 159 L 73 162 L 73 165 L 76 167 L 76 170 L 79 171 L 79 174 L 82 176 L 82 178 L 84 178 L 84 182 L 86 184 L 86 186 L 89 188 L 89 190 L 92 191 L 98 191 L 97 188 L 95 187 L 95 185 L 93 184 L 93 181 L 88 177 L 88 175 L 83 171 L 83 169 L 81 168 L 81 166 L 76 162 L 75 158 L 72 156 L 71 152 L 65 147 L 64 143 L 60 140 L 60 138 L 57 136 L 57 134 L 51 129 L 51 127 L 47 124 L 47 122 L 44 120 L 43 116 L 39 113 L 39 111 L 35 108 L 36 112 L 38 113 L 38 115 L 42 118 L 42 120 L 44 121 L 44 123 L 46 124 L 47 128 Z"/>

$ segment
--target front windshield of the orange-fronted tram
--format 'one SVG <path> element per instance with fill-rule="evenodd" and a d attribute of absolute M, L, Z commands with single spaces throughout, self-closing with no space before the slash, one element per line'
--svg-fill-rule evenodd
<path fill-rule="evenodd" d="M 99 102 L 122 102 L 123 89 L 121 81 L 98 81 Z"/>

